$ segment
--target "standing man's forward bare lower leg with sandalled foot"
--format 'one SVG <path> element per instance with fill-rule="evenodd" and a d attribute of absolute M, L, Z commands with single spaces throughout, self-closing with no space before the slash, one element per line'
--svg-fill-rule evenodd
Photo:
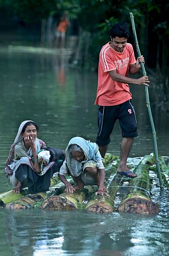
<path fill-rule="evenodd" d="M 127 157 L 129 156 L 131 147 L 133 144 L 133 138 L 123 138 L 121 140 L 121 155 L 120 155 L 120 163 L 118 167 L 118 172 L 130 171 L 129 167 L 127 167 Z M 128 176 L 136 177 L 136 173 L 127 173 Z"/>

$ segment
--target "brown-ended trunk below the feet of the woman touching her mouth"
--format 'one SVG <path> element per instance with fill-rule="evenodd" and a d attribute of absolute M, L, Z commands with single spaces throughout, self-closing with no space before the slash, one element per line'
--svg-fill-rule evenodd
<path fill-rule="evenodd" d="M 25 197 L 19 198 L 18 200 L 13 201 L 12 203 L 6 204 L 5 208 L 10 209 L 26 209 L 26 208 L 35 208 L 36 204 L 40 204 L 46 198 L 46 192 L 29 194 Z"/>

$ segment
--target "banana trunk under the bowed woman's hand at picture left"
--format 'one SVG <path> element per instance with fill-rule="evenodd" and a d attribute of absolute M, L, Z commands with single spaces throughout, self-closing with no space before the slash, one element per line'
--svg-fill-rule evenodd
<path fill-rule="evenodd" d="M 51 196 L 44 201 L 42 210 L 76 211 L 82 208 L 83 200 L 86 199 L 88 190 L 76 190 L 73 193 L 62 193 L 59 196 Z"/>

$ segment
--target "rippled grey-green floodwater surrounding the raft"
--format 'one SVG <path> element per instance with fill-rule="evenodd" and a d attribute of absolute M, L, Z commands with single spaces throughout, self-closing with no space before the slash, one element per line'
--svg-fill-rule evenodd
<path fill-rule="evenodd" d="M 19 124 L 31 119 L 38 137 L 48 146 L 65 149 L 70 138 L 95 141 L 97 134 L 97 73 L 73 68 L 66 54 L 0 50 L 1 158 L 0 192 L 10 190 L 4 164 Z M 151 77 L 148 91 L 160 156 L 168 153 L 168 112 L 163 90 Z M 131 85 L 138 122 L 138 138 L 130 157 L 154 152 L 143 86 Z M 121 132 L 114 127 L 109 152 L 120 153 Z M 168 255 L 168 191 L 160 191 L 154 173 L 152 199 L 157 215 L 57 212 L 0 209 L 0 255 Z"/>

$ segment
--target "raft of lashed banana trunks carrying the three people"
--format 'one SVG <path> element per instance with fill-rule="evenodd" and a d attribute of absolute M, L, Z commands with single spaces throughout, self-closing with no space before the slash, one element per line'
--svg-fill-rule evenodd
<path fill-rule="evenodd" d="M 111 154 L 106 154 L 105 157 L 105 171 L 106 181 L 105 185 L 109 192 L 110 197 L 95 196 L 97 187 L 85 186 L 82 190 L 77 190 L 72 194 L 64 193 L 64 186 L 60 181 L 55 178 L 53 187 L 57 187 L 55 192 L 37 193 L 37 194 L 16 194 L 17 200 L 3 201 L 0 194 L 0 206 L 6 208 L 40 208 L 42 210 L 62 210 L 62 211 L 88 211 L 96 213 L 105 213 L 114 211 L 114 200 L 116 199 L 119 188 L 123 185 L 124 181 L 129 181 L 129 188 L 126 195 L 121 200 L 116 211 L 131 212 L 141 214 L 156 214 L 158 213 L 158 205 L 153 203 L 151 199 L 151 179 L 148 175 L 150 166 L 156 164 L 153 156 L 145 156 L 134 169 L 137 177 L 130 179 L 124 178 L 117 174 L 118 157 Z M 161 161 L 162 163 L 162 161 Z M 163 163 L 164 165 L 164 163 Z M 168 167 L 166 166 L 167 170 Z M 166 171 L 166 169 L 165 169 Z M 163 171 L 164 172 L 164 171 Z M 167 172 L 167 171 L 166 171 Z M 169 170 L 168 170 L 169 177 Z M 163 177 L 163 175 L 162 175 Z M 166 177 L 166 176 L 165 176 Z M 60 184 L 62 184 L 61 188 Z M 169 184 L 169 183 L 168 183 Z M 26 193 L 26 192 L 25 192 Z M 27 192 L 28 193 L 28 192 Z M 2 202 L 2 204 L 1 204 Z"/>

